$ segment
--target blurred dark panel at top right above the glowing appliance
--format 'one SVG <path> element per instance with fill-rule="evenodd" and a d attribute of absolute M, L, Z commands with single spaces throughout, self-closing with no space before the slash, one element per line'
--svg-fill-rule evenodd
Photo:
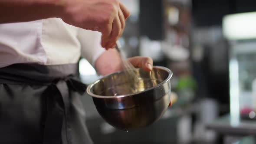
<path fill-rule="evenodd" d="M 226 14 L 252 11 L 256 11 L 256 0 L 192 0 L 195 26 L 221 25 Z"/>

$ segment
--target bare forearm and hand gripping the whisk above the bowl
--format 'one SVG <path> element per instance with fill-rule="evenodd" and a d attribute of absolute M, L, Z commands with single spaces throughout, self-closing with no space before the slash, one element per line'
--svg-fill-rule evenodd
<path fill-rule="evenodd" d="M 114 47 L 129 16 L 119 0 L 0 0 L 0 23 L 59 17 L 73 26 L 101 32 L 106 49 Z"/>

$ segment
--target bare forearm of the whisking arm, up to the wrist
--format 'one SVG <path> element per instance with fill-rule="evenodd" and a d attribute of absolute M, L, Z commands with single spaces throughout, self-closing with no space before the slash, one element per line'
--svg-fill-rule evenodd
<path fill-rule="evenodd" d="M 0 0 L 0 23 L 59 17 L 62 0 Z"/>

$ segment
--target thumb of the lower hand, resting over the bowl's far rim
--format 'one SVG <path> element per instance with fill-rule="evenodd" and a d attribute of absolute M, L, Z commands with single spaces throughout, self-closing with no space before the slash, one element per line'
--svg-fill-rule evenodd
<path fill-rule="evenodd" d="M 151 71 L 153 69 L 153 59 L 146 56 L 135 56 L 128 59 L 129 62 L 135 67 L 142 68 L 146 71 Z"/>

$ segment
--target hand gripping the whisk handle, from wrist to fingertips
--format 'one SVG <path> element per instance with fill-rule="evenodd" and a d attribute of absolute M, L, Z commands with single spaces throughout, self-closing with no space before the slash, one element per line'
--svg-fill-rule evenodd
<path fill-rule="evenodd" d="M 129 10 L 119 0 L 62 0 L 61 18 L 73 26 L 102 33 L 102 47 L 115 47 L 125 28 Z"/>

